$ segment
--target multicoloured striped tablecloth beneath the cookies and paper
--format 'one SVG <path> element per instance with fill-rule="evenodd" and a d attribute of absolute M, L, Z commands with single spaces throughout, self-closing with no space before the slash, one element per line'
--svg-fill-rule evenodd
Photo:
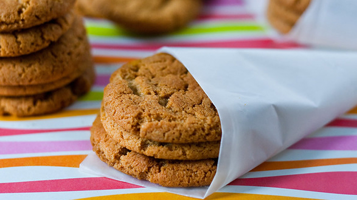
<path fill-rule="evenodd" d="M 110 74 L 161 46 L 295 48 L 277 42 L 243 0 L 206 0 L 189 27 L 159 37 L 125 33 L 87 18 L 97 78 L 92 90 L 63 111 L 0 117 L 0 199 L 189 199 L 84 174 L 89 128 Z M 357 199 L 357 109 L 232 181 L 209 199 Z"/>

